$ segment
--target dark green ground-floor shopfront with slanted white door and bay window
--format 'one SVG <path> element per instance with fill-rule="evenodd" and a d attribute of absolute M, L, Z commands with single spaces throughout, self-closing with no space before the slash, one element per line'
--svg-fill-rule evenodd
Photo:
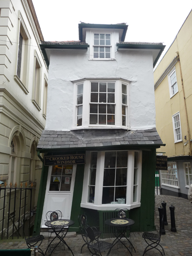
<path fill-rule="evenodd" d="M 44 131 L 43 134 L 50 137 L 53 132 Z M 84 136 L 90 138 L 93 131 L 90 133 Z M 99 144 L 89 143 L 85 138 L 84 145 L 78 148 L 77 144 L 68 148 L 44 148 L 39 143 L 38 155 L 44 153 L 44 158 L 40 157 L 44 166 L 34 233 L 45 228 L 46 212 L 56 209 L 62 211 L 63 218 L 75 221 L 70 227 L 74 232 L 79 232 L 77 217 L 84 212 L 90 225 L 104 231 L 105 213 L 116 208 L 130 209 L 129 217 L 135 221 L 132 231 L 155 230 L 156 148 L 162 146 L 162 142 L 155 129 L 151 129 L 151 136 L 154 141 L 156 134 L 156 143 L 142 145 L 135 143 L 135 136 L 139 141 L 139 136 L 144 135 L 142 132 L 135 131 L 134 135 L 127 131 L 113 133 L 103 133 L 108 137 L 105 142 L 95 132 L 92 141 L 100 139 Z M 150 130 L 147 134 L 150 141 Z M 67 136 L 79 137 L 74 132 L 68 132 Z M 112 144 L 111 137 L 118 143 Z M 129 143 L 126 143 L 127 138 Z"/>

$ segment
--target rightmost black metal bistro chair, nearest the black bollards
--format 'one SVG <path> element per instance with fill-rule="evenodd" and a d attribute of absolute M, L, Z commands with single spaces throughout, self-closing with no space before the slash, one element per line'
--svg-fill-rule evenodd
<path fill-rule="evenodd" d="M 161 253 L 162 256 L 163 256 L 163 254 L 165 255 L 165 251 L 164 251 L 163 247 L 161 246 L 161 244 L 159 244 L 161 241 L 161 230 L 162 230 L 162 226 L 163 226 L 163 220 L 164 220 L 164 217 L 162 218 L 162 222 L 160 224 L 159 234 L 154 234 L 154 233 L 149 233 L 149 232 L 143 233 L 142 237 L 144 238 L 145 242 L 148 244 L 147 247 L 144 249 L 144 254 L 146 252 L 148 252 L 149 250 L 156 249 Z M 162 248 L 163 253 L 157 248 L 158 245 Z M 148 248 L 148 247 L 150 247 L 150 248 Z M 144 256 L 144 254 L 143 254 L 143 256 Z"/>

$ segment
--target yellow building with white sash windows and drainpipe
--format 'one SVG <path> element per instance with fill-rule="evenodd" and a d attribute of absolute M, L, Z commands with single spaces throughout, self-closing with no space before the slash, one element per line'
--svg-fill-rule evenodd
<path fill-rule="evenodd" d="M 187 198 L 192 183 L 192 11 L 154 72 L 156 129 L 168 156 L 164 195 Z"/>

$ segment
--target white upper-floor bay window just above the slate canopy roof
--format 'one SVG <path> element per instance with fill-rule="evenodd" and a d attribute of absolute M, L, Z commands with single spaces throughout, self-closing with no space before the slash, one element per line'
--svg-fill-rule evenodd
<path fill-rule="evenodd" d="M 127 128 L 128 84 L 120 79 L 77 83 L 74 128 Z"/>

